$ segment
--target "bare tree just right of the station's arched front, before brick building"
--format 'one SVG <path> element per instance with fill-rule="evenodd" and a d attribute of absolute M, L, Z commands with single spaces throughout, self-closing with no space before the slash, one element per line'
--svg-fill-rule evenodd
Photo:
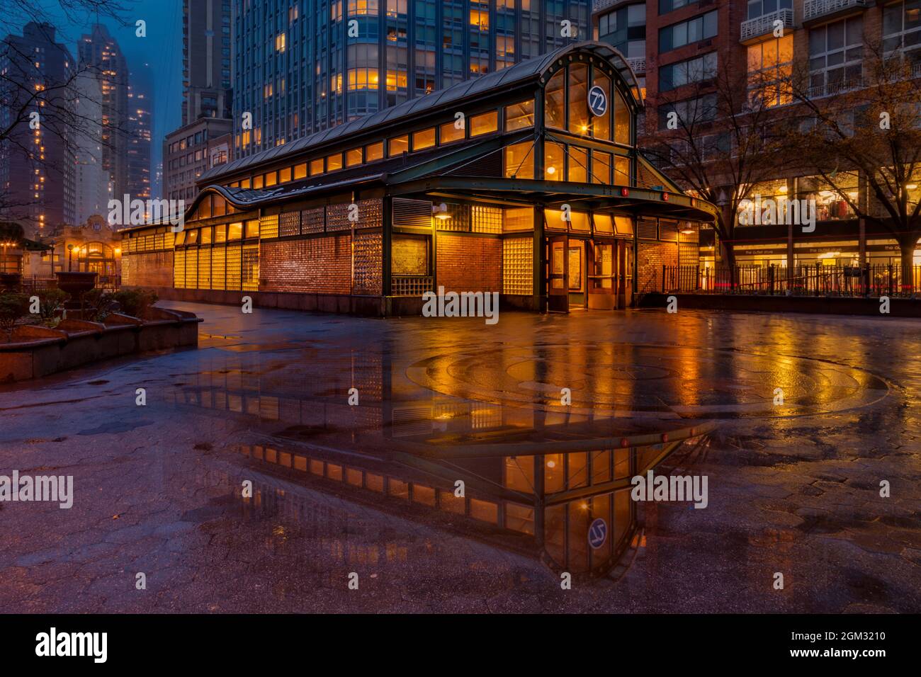
<path fill-rule="evenodd" d="M 647 137 L 645 153 L 684 190 L 717 204 L 714 227 L 731 267 L 728 243 L 735 239 L 740 203 L 787 165 L 785 126 L 772 109 L 790 95 L 783 81 L 725 64 L 709 73 L 691 71 L 688 79 L 696 82 L 653 102 L 659 131 Z"/>

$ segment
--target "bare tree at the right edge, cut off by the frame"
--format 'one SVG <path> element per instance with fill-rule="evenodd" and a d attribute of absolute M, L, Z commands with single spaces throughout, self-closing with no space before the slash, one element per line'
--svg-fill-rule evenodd
<path fill-rule="evenodd" d="M 904 53 L 867 43 L 863 76 L 833 91 L 792 78 L 800 124 L 791 143 L 803 167 L 818 174 L 855 214 L 899 244 L 903 291 L 913 290 L 915 247 L 921 238 L 921 80 Z M 847 179 L 858 172 L 863 190 Z"/>

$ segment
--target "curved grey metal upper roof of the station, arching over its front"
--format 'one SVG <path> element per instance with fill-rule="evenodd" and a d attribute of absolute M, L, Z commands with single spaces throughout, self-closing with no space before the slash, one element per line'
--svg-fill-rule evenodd
<path fill-rule="evenodd" d="M 623 79 L 626 94 L 634 102 L 636 108 L 642 107 L 642 101 L 639 97 L 639 84 L 636 81 L 635 73 L 630 68 L 630 64 L 624 59 L 624 55 L 615 50 L 610 44 L 599 41 L 582 41 L 573 42 L 565 47 L 561 47 L 553 52 L 546 53 L 542 56 L 528 61 L 522 61 L 503 68 L 495 73 L 485 76 L 476 77 L 471 80 L 465 80 L 452 87 L 439 89 L 426 96 L 418 97 L 403 101 L 396 106 L 391 106 L 383 111 L 372 113 L 348 123 L 338 124 L 330 129 L 310 134 L 303 138 L 297 139 L 289 144 L 274 146 L 259 153 L 255 153 L 245 158 L 237 158 L 226 165 L 220 165 L 214 169 L 204 172 L 200 181 L 215 181 L 217 177 L 224 174 L 237 172 L 241 169 L 247 169 L 262 163 L 271 162 L 276 159 L 286 158 L 287 156 L 296 155 L 313 146 L 330 144 L 349 134 L 359 134 L 367 132 L 375 127 L 390 125 L 402 118 L 414 118 L 427 111 L 447 106 L 449 103 L 457 103 L 473 97 L 482 97 L 486 94 L 509 88 L 512 85 L 519 85 L 529 79 L 540 79 L 553 66 L 554 62 L 568 54 L 578 52 L 589 52 L 608 61 L 614 70 Z"/>

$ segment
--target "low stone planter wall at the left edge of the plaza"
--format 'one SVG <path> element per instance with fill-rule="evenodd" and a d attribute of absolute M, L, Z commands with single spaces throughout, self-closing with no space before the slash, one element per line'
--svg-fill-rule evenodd
<path fill-rule="evenodd" d="M 104 323 L 68 319 L 55 329 L 20 326 L 0 344 L 0 382 L 39 379 L 111 357 L 198 345 L 201 318 L 182 310 L 151 309 L 141 321 L 115 313 Z"/>

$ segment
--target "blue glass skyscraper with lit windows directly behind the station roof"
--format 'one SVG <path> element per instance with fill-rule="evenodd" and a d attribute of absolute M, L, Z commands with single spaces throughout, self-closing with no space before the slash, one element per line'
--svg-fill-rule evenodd
<path fill-rule="evenodd" d="M 588 0 L 234 0 L 233 9 L 235 157 L 589 36 Z"/>

